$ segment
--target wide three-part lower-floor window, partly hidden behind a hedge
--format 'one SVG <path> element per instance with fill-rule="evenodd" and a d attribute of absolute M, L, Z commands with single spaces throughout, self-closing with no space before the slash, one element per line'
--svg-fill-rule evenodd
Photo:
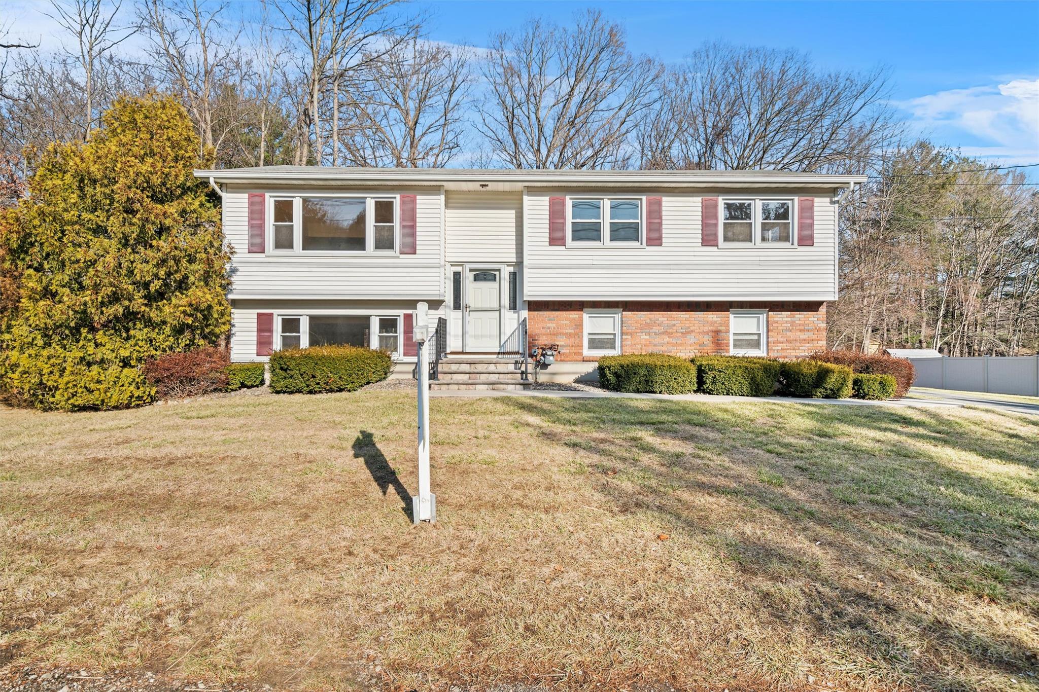
<path fill-rule="evenodd" d="M 278 317 L 277 347 L 355 345 L 399 353 L 400 316 L 385 314 L 299 314 Z"/>

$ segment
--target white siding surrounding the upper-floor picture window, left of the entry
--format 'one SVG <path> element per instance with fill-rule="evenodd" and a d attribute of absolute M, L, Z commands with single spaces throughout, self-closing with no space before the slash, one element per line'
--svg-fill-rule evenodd
<path fill-rule="evenodd" d="M 235 250 L 231 260 L 234 299 L 415 299 L 435 301 L 444 297 L 444 248 L 442 203 L 438 188 L 357 190 L 337 188 L 337 194 L 396 197 L 416 195 L 416 254 L 392 253 L 249 253 L 249 192 L 266 191 L 276 197 L 320 196 L 321 189 L 245 188 L 229 186 L 223 196 L 223 232 Z M 268 218 L 270 221 L 268 205 Z"/>

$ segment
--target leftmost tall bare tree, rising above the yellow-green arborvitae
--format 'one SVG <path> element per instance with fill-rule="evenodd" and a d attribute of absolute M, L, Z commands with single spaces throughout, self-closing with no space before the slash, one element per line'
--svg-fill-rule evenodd
<path fill-rule="evenodd" d="M 79 61 L 83 71 L 83 139 L 86 139 L 97 120 L 95 109 L 95 71 L 106 53 L 132 36 L 133 27 L 113 26 L 122 2 L 107 5 L 104 0 L 51 0 L 54 15 L 48 15 L 76 38 L 77 53 L 66 53 Z"/>

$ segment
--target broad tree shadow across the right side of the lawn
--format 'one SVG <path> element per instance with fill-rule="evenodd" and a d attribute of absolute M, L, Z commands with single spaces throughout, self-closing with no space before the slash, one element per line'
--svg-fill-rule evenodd
<path fill-rule="evenodd" d="M 1021 630 L 969 625 L 991 604 L 1039 616 L 1031 430 L 932 410 L 508 400 L 542 421 L 545 440 L 592 455 L 578 472 L 606 504 L 700 541 L 746 575 L 769 617 L 828 642 L 831 665 L 929 689 L 976 689 L 978 668 L 1039 667 Z M 960 456 L 977 458 L 977 472 Z M 804 608 L 787 601 L 791 583 Z M 975 616 L 957 612 L 971 599 Z"/>

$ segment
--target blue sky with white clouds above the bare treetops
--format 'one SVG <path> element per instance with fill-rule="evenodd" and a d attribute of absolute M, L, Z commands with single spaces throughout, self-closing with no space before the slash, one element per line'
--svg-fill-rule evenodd
<path fill-rule="evenodd" d="M 131 2 L 124 4 L 129 10 Z M 1039 0 L 1027 2 L 538 2 L 416 0 L 429 37 L 485 46 L 534 16 L 560 24 L 596 7 L 630 48 L 674 62 L 708 40 L 796 48 L 821 70 L 889 71 L 910 129 L 1003 164 L 1039 163 Z M 64 39 L 42 0 L 0 0 L 12 37 Z M 258 16 L 255 0 L 231 11 Z M 137 37 L 134 37 L 135 39 Z M 126 48 L 135 50 L 135 40 Z"/>

